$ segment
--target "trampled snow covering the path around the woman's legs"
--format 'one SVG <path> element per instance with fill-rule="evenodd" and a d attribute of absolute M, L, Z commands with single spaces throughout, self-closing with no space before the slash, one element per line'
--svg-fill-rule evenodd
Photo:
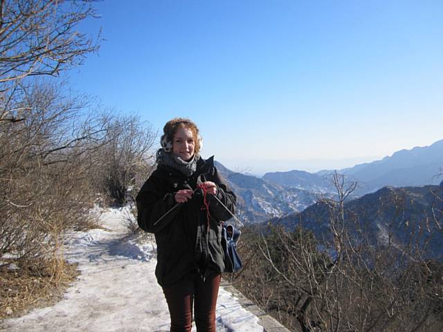
<path fill-rule="evenodd" d="M 96 211 L 97 212 L 97 211 Z M 54 306 L 35 309 L 19 318 L 4 320 L 0 329 L 10 332 L 169 331 L 170 318 L 157 284 L 155 244 L 138 243 L 125 235 L 129 208 L 100 214 L 103 229 L 72 232 L 66 240 L 66 257 L 78 262 L 81 275 Z M 242 308 L 221 287 L 217 302 L 217 331 L 263 331 L 258 318 Z M 195 330 L 195 326 L 192 331 Z"/>

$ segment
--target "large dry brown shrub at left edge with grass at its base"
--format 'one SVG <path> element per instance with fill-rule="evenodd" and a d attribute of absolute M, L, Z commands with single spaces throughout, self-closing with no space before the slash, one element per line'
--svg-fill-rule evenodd
<path fill-rule="evenodd" d="M 21 119 L 0 122 L 1 306 L 17 313 L 66 279 L 64 234 L 93 221 L 84 155 L 103 136 L 60 85 L 17 85 L 3 107 Z"/>

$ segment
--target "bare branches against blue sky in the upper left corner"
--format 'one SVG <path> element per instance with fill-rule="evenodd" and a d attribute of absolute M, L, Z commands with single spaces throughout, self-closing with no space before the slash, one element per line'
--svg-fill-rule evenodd
<path fill-rule="evenodd" d="M 58 75 L 98 50 L 76 30 L 95 15 L 91 1 L 1 0 L 0 15 L 0 83 Z"/>

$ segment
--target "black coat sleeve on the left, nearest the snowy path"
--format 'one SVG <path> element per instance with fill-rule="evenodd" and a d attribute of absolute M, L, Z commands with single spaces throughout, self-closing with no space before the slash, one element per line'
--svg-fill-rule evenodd
<path fill-rule="evenodd" d="M 145 232 L 160 232 L 181 210 L 174 193 L 165 192 L 167 186 L 154 174 L 147 179 L 136 197 L 138 226 Z"/>

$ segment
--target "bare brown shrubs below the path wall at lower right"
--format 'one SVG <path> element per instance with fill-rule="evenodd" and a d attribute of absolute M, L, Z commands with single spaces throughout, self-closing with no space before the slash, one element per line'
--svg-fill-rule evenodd
<path fill-rule="evenodd" d="M 244 228 L 239 252 L 246 264 L 235 286 L 292 331 L 442 331 L 443 265 L 424 258 L 424 237 L 374 242 L 343 200 L 325 204 L 329 231 L 322 239 L 301 223 L 293 230 Z M 401 215 L 403 204 L 395 197 L 383 209 Z M 424 216 L 417 229 L 440 231 L 430 224 Z"/>

